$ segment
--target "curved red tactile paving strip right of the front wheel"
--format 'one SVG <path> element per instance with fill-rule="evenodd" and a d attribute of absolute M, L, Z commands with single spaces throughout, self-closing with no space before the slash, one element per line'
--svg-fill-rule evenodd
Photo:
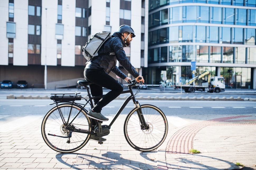
<path fill-rule="evenodd" d="M 189 150 L 193 148 L 194 137 L 202 128 L 209 126 L 211 124 L 214 124 L 216 122 L 221 122 L 221 121 L 226 121 L 229 119 L 236 119 L 241 117 L 250 117 L 250 116 L 241 115 L 241 116 L 221 117 L 217 119 L 202 121 L 199 123 L 193 123 L 192 125 L 183 127 L 182 129 L 174 133 L 174 135 L 170 138 L 166 147 L 166 153 L 189 153 Z"/>

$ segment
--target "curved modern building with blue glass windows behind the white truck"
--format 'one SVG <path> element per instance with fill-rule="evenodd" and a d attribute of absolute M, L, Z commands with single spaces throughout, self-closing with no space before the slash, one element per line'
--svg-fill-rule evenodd
<path fill-rule="evenodd" d="M 149 0 L 148 84 L 209 70 L 226 88 L 256 88 L 255 0 Z"/>

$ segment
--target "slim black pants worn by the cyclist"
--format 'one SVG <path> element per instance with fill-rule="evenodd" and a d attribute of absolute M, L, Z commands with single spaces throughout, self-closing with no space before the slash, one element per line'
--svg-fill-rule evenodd
<path fill-rule="evenodd" d="M 104 69 L 84 69 L 84 77 L 94 84 L 89 85 L 92 96 L 103 95 L 102 87 L 110 89 L 102 99 L 94 99 L 94 108 L 96 112 L 101 112 L 102 107 L 114 100 L 123 91 L 123 87 L 110 75 L 105 73 Z"/>

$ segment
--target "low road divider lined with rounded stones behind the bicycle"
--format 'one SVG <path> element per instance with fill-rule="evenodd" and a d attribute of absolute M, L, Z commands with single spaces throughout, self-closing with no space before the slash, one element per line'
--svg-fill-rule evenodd
<path fill-rule="evenodd" d="M 84 96 L 84 98 L 86 99 L 89 99 L 88 96 Z M 123 97 L 117 97 L 116 100 L 124 100 L 126 99 L 127 96 L 123 96 Z M 8 96 L 6 96 L 6 99 L 50 99 L 50 97 L 48 97 L 47 95 L 43 96 L 43 97 L 40 97 L 39 95 L 35 96 L 35 97 L 32 97 L 31 95 L 29 96 L 26 96 L 24 97 L 23 95 L 20 95 L 20 96 L 14 96 L 13 94 L 10 94 Z M 211 96 L 207 97 L 207 98 L 204 98 L 203 96 L 200 97 L 200 98 L 197 98 L 196 96 L 192 97 L 192 98 L 189 98 L 188 96 L 185 97 L 185 98 L 182 98 L 181 96 L 177 97 L 177 98 L 174 98 L 173 96 L 171 97 L 166 97 L 166 96 L 163 96 L 163 97 L 158 97 L 158 96 L 155 96 L 155 97 L 151 97 L 151 96 L 148 96 L 148 97 L 143 97 L 143 96 L 139 96 L 137 97 L 137 99 L 143 99 L 143 100 L 193 100 L 193 101 L 256 101 L 256 98 L 241 98 L 241 97 L 237 97 L 236 99 L 234 97 L 229 97 L 229 98 L 226 98 L 226 97 L 222 97 L 222 98 L 219 98 L 219 97 L 215 97 L 215 98 L 212 98 Z"/>

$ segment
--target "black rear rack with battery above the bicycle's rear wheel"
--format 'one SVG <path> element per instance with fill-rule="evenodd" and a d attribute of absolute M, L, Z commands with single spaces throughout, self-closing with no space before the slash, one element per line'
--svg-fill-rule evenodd
<path fill-rule="evenodd" d="M 75 101 L 75 100 L 81 100 L 82 96 L 78 95 L 80 93 L 53 93 L 50 97 L 53 101 Z"/>

